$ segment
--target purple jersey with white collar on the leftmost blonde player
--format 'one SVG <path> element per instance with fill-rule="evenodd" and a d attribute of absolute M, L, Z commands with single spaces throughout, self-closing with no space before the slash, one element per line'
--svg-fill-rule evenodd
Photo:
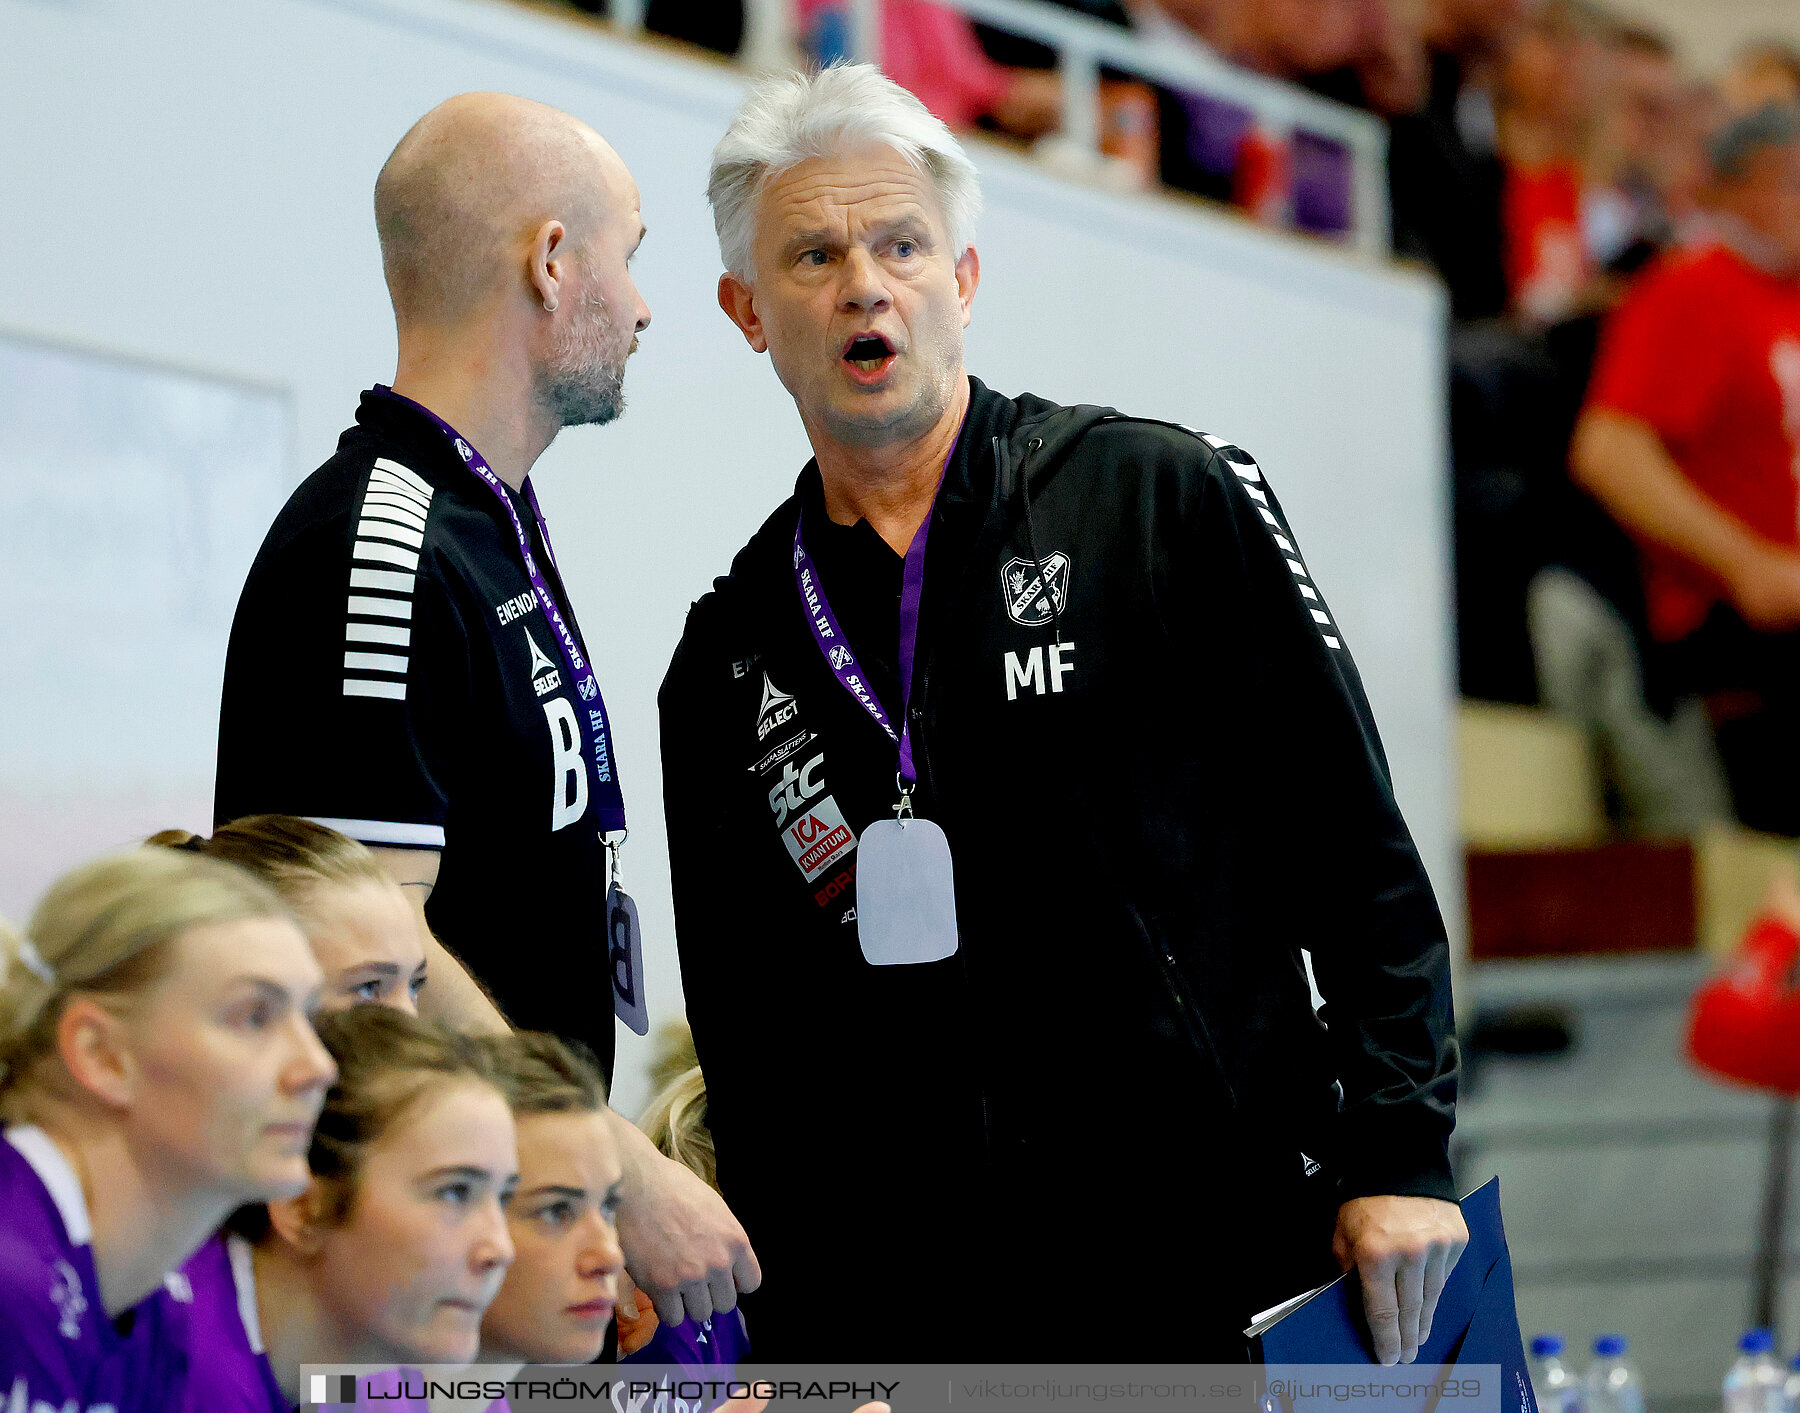
<path fill-rule="evenodd" d="M 0 1141 L 0 1409 L 167 1413 L 187 1382 L 187 1285 L 101 1305 L 81 1179 L 32 1125 Z"/>

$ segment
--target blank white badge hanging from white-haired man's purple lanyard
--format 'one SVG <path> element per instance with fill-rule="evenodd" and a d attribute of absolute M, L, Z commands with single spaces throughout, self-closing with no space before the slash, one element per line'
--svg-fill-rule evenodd
<path fill-rule="evenodd" d="M 857 941 L 875 967 L 943 961 L 956 954 L 956 877 L 950 841 L 911 810 L 877 819 L 857 844 Z"/>

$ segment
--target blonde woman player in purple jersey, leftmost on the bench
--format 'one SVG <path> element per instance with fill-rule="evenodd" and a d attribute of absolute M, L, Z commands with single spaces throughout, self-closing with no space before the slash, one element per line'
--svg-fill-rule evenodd
<path fill-rule="evenodd" d="M 256 878 L 137 850 L 58 880 L 0 968 L 0 1408 L 167 1413 L 169 1273 L 306 1186 L 319 963 Z"/>

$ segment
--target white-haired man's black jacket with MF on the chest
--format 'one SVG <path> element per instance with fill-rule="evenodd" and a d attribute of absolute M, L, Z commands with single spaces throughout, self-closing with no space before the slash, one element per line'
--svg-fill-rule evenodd
<path fill-rule="evenodd" d="M 688 1012 L 767 1276 L 752 1337 L 1087 1355 L 1042 1305 L 1098 1283 L 1129 1325 L 1102 1357 L 1238 1357 L 1249 1314 L 1336 1271 L 1341 1201 L 1454 1195 L 1444 922 L 1255 463 L 970 382 L 911 704 L 956 956 L 857 945 L 855 839 L 893 814 L 896 752 L 812 637 L 796 518 L 889 711 L 900 558 L 828 520 L 817 466 L 662 686 Z"/>

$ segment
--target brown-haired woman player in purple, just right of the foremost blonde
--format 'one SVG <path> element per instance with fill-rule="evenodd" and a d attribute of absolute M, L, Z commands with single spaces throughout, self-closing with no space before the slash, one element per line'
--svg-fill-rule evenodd
<path fill-rule="evenodd" d="M 479 1040 L 389 1006 L 319 1022 L 338 1066 L 310 1183 L 232 1219 L 187 1264 L 189 1413 L 288 1413 L 315 1402 L 304 1364 L 466 1364 L 513 1260 L 504 1206 L 513 1116 Z M 358 1384 L 373 1406 L 403 1375 Z"/>

